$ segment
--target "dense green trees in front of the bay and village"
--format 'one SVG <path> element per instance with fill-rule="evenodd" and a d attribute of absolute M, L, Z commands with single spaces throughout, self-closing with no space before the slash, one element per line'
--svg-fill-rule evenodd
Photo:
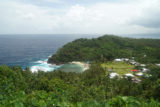
<path fill-rule="evenodd" d="M 159 107 L 160 67 L 151 77 L 110 79 L 101 63 L 83 73 L 0 66 L 0 107 Z"/>

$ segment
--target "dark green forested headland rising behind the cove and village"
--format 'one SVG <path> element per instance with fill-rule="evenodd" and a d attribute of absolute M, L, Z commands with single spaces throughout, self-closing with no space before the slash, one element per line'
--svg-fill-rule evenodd
<path fill-rule="evenodd" d="M 113 35 L 77 39 L 60 48 L 49 58 L 48 63 L 108 61 L 131 57 L 142 63 L 160 63 L 160 39 L 133 39 Z"/>

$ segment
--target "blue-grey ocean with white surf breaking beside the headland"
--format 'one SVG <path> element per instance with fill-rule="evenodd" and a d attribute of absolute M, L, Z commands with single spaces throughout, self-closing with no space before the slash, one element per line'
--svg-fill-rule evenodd
<path fill-rule="evenodd" d="M 47 64 L 47 59 L 64 44 L 78 38 L 93 38 L 101 35 L 88 34 L 14 34 L 0 35 L 0 65 L 29 67 L 38 70 L 53 71 L 61 66 Z M 125 35 L 136 38 L 160 38 L 159 35 Z M 66 66 L 66 65 L 65 65 Z M 78 65 L 67 65 L 82 70 Z M 63 67 L 62 67 L 63 68 Z M 67 68 L 70 69 L 70 68 Z M 74 71 L 74 70 L 73 70 Z"/>

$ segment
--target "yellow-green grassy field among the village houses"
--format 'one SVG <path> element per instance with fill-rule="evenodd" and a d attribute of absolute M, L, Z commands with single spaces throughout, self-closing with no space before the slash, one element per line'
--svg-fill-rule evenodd
<path fill-rule="evenodd" d="M 102 67 L 106 69 L 106 72 L 108 72 L 108 69 L 112 69 L 113 72 L 118 73 L 120 76 L 132 73 L 131 70 L 134 69 L 133 65 L 126 62 L 107 62 L 103 63 Z"/>

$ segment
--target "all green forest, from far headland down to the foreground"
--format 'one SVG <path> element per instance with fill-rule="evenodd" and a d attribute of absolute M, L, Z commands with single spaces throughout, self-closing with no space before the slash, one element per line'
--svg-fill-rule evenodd
<path fill-rule="evenodd" d="M 139 83 L 129 77 L 110 79 L 103 67 L 104 62 L 122 57 L 160 63 L 159 53 L 160 40 L 103 36 L 68 43 L 48 60 L 91 61 L 85 72 L 32 73 L 1 65 L 0 107 L 160 107 L 160 67 L 149 64 L 147 73 L 152 76 L 139 77 Z"/>

